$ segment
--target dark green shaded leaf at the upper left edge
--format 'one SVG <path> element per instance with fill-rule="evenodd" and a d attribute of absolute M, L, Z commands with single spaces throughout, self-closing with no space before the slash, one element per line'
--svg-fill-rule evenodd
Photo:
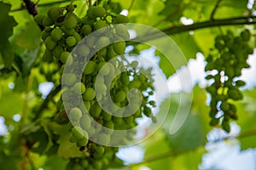
<path fill-rule="evenodd" d="M 9 37 L 13 35 L 13 28 L 17 25 L 15 19 L 9 16 L 11 5 L 0 2 L 0 53 L 3 58 L 3 64 L 10 68 L 15 58 Z"/>

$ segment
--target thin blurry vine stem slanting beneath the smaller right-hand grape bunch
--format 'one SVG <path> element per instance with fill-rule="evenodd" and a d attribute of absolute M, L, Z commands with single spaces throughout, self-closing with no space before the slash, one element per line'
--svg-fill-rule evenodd
<path fill-rule="evenodd" d="M 245 132 L 241 133 L 238 136 L 227 136 L 227 137 L 224 137 L 224 138 L 221 138 L 221 139 L 213 140 L 211 143 L 222 142 L 226 139 L 242 139 L 242 138 L 246 138 L 246 137 L 253 136 L 253 135 L 256 135 L 256 129 L 245 131 Z M 207 144 L 207 142 L 205 142 L 204 144 L 201 144 L 195 150 L 200 150 L 201 147 L 205 146 L 205 144 Z M 157 160 L 160 160 L 160 159 L 165 159 L 166 157 L 179 156 L 179 155 L 182 155 L 183 153 L 187 153 L 187 151 L 173 152 L 173 150 L 168 150 L 164 153 L 160 153 L 160 154 L 155 155 L 155 156 L 148 156 L 143 161 L 130 164 L 129 167 L 136 167 L 138 165 L 142 165 L 142 164 L 145 164 L 145 163 L 148 163 L 148 162 L 151 162 L 151 161 L 157 161 Z"/>

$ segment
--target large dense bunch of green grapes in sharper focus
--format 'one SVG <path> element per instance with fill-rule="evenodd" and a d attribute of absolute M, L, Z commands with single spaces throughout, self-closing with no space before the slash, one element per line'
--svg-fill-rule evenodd
<path fill-rule="evenodd" d="M 60 68 L 62 92 L 55 121 L 67 124 L 69 141 L 84 153 L 71 159 L 67 169 L 100 170 L 108 167 L 118 150 L 111 145 L 133 139 L 138 117 L 156 122 L 154 79 L 152 68 L 139 67 L 123 55 L 130 37 L 125 15 L 111 14 L 105 5 L 92 6 L 79 18 L 75 7 L 49 8 L 34 20 L 44 26 L 43 59 L 56 61 Z"/>

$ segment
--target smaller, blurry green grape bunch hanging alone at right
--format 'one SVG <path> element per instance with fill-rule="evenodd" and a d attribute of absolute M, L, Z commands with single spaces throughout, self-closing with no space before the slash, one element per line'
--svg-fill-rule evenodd
<path fill-rule="evenodd" d="M 215 38 L 216 51 L 207 57 L 205 71 L 208 71 L 206 79 L 212 84 L 207 87 L 211 94 L 212 118 L 210 125 L 221 123 L 226 132 L 230 132 L 230 119 L 237 120 L 236 105 L 234 101 L 242 99 L 240 87 L 246 83 L 241 81 L 241 70 L 249 68 L 247 58 L 253 54 L 253 48 L 249 45 L 251 34 L 248 30 L 241 31 L 235 36 L 232 31 Z"/>

